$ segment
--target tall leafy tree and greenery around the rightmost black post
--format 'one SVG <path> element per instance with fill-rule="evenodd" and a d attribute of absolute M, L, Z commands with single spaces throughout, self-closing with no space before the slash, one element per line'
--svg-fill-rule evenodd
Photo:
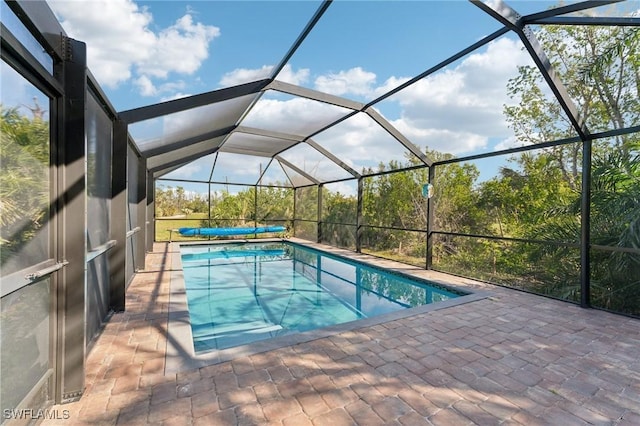
<path fill-rule="evenodd" d="M 640 122 L 640 29 L 547 26 L 537 36 L 591 132 L 625 129 Z M 505 107 L 505 116 L 516 136 L 533 144 L 573 134 L 557 102 L 545 96 L 541 83 L 537 70 L 520 68 L 519 75 L 508 86 L 509 93 L 519 103 Z M 520 216 L 520 232 L 524 237 L 576 241 L 582 197 L 581 157 L 582 145 L 570 144 L 518 160 L 523 170 L 522 179 L 534 182 L 542 178 L 540 188 L 553 188 L 557 192 L 529 201 L 529 209 L 535 207 L 545 217 L 544 221 L 537 221 L 534 217 Z M 630 306 L 635 303 L 635 314 L 640 314 L 637 308 L 640 287 L 638 160 L 637 133 L 621 133 L 593 142 L 590 242 L 630 251 L 592 251 L 592 299 L 598 306 L 625 312 L 630 312 Z M 550 164 L 554 167 L 549 168 Z M 512 197 L 508 191 L 515 189 L 519 180 L 512 177 L 502 174 L 496 181 L 504 186 L 503 195 L 491 194 L 492 188 L 486 186 L 485 202 L 490 204 L 499 202 L 501 197 L 503 200 Z M 537 290 L 559 297 L 579 297 L 576 250 L 540 245 L 522 255 L 544 267 L 544 273 L 538 278 L 546 284 L 537 286 Z"/>

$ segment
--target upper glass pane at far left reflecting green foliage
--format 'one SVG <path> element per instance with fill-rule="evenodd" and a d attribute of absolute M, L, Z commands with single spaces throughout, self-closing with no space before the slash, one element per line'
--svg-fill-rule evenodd
<path fill-rule="evenodd" d="M 51 257 L 49 99 L 5 62 L 0 78 L 0 265 L 6 276 Z"/>

